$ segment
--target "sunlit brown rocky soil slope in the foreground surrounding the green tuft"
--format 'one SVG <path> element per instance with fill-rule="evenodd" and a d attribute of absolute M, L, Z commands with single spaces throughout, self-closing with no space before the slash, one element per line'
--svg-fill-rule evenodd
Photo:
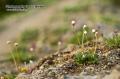
<path fill-rule="evenodd" d="M 72 45 L 41 58 L 16 79 L 120 79 L 119 48 L 105 50 L 103 46 L 97 49 L 98 64 L 76 64 L 74 55 L 80 50 L 80 47 Z"/>

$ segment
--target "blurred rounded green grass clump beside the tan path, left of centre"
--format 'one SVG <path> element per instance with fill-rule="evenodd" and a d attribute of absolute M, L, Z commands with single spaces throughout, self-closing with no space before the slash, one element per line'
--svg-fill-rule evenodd
<path fill-rule="evenodd" d="M 30 42 L 33 40 L 36 40 L 39 35 L 39 30 L 38 29 L 27 29 L 21 34 L 20 41 L 25 43 L 25 42 Z"/>

